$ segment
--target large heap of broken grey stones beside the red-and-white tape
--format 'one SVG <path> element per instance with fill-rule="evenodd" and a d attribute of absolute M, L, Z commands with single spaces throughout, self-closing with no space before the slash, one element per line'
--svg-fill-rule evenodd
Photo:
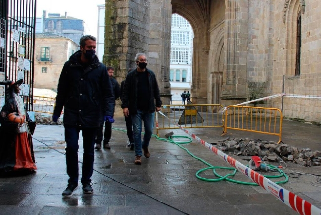
<path fill-rule="evenodd" d="M 311 152 L 310 149 L 298 149 L 287 144 L 277 144 L 275 141 L 260 139 L 225 139 L 215 145 L 222 152 L 237 156 L 259 156 L 262 161 L 294 162 L 303 166 L 320 166 L 321 152 Z"/>

